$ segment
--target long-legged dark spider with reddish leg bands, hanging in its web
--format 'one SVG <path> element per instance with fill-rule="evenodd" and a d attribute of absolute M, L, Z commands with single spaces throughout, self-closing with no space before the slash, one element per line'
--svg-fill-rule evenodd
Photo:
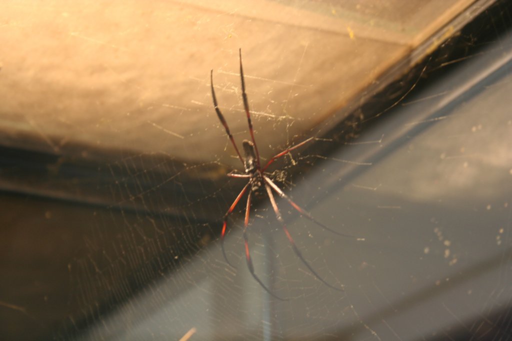
<path fill-rule="evenodd" d="M 226 123 L 226 120 L 225 120 L 224 116 L 222 115 L 222 113 L 221 113 L 221 111 L 219 109 L 219 106 L 217 104 L 217 97 L 215 96 L 215 90 L 214 90 L 214 81 L 213 81 L 213 73 L 214 73 L 214 71 L 211 70 L 211 72 L 210 72 L 211 97 L 214 100 L 215 111 L 217 112 L 217 116 L 219 117 L 219 120 L 221 121 L 222 125 L 224 126 L 224 129 L 226 130 L 226 134 L 229 137 L 229 139 L 231 140 L 231 143 L 232 143 L 232 145 L 234 147 L 234 150 L 237 152 L 237 156 L 240 159 L 240 161 L 242 162 L 242 165 L 244 167 L 244 174 L 238 174 L 238 173 L 234 173 L 236 171 L 232 171 L 232 172 L 228 173 L 227 176 L 231 177 L 231 178 L 244 178 L 244 179 L 248 179 L 249 180 L 248 183 L 244 186 L 244 188 L 242 188 L 242 191 L 240 191 L 240 194 L 233 201 L 233 203 L 231 204 L 231 206 L 227 210 L 226 214 L 224 215 L 224 223 L 222 225 L 222 232 L 221 232 L 221 247 L 222 247 L 222 254 L 224 255 L 224 259 L 226 260 L 227 264 L 229 264 L 231 267 L 233 267 L 231 265 L 231 263 L 228 261 L 228 259 L 226 257 L 226 252 L 224 250 L 224 237 L 225 237 L 225 234 L 226 234 L 227 219 L 228 219 L 229 215 L 233 212 L 233 210 L 237 206 L 237 204 L 240 202 L 240 200 L 242 199 L 243 195 L 248 190 L 249 194 L 247 196 L 247 205 L 246 205 L 246 208 L 245 208 L 245 220 L 244 220 L 244 231 L 243 231 L 244 243 L 245 243 L 245 260 L 247 262 L 247 267 L 249 268 L 249 272 L 251 273 L 253 278 L 261 285 L 261 287 L 263 289 L 265 289 L 265 291 L 267 291 L 270 295 L 272 295 L 276 299 L 284 300 L 281 297 L 279 297 L 278 295 L 274 294 L 267 286 L 265 286 L 265 284 L 260 280 L 258 275 L 254 272 L 254 266 L 252 265 L 251 255 L 250 255 L 250 252 L 249 252 L 249 244 L 248 244 L 248 238 L 247 238 L 247 227 L 249 225 L 249 214 L 250 214 L 250 207 L 251 207 L 251 197 L 252 197 L 253 194 L 259 194 L 260 190 L 262 188 L 264 188 L 266 193 L 267 193 L 267 195 L 268 195 L 268 198 L 270 200 L 272 208 L 273 208 L 273 210 L 275 212 L 275 216 L 278 219 L 278 221 L 281 223 L 281 225 L 283 227 L 283 230 L 285 232 L 285 235 L 288 238 L 288 241 L 289 241 L 289 243 L 290 243 L 290 245 L 291 245 L 291 247 L 293 249 L 293 252 L 295 252 L 295 254 L 298 257 L 298 259 L 300 259 L 302 261 L 302 263 L 304 263 L 304 265 L 306 265 L 306 267 L 309 269 L 309 271 L 311 271 L 311 273 L 315 276 L 315 278 L 317 280 L 321 281 L 322 283 L 324 283 L 329 288 L 332 288 L 332 289 L 338 290 L 338 291 L 343 291 L 343 288 L 335 287 L 335 286 L 327 283 L 320 275 L 318 275 L 318 273 L 316 273 L 316 271 L 311 267 L 311 265 L 303 257 L 301 251 L 298 249 L 298 247 L 295 244 L 295 241 L 291 237 L 290 232 L 288 231 L 288 228 L 286 227 L 286 223 L 283 220 L 283 217 L 281 216 L 281 212 L 279 210 L 279 207 L 278 207 L 278 205 L 275 202 L 275 198 L 274 198 L 274 195 L 272 193 L 272 190 L 276 194 L 278 194 L 279 197 L 281 197 L 281 198 L 285 199 L 286 201 L 288 201 L 288 203 L 295 210 L 297 210 L 302 216 L 308 218 L 309 220 L 314 222 L 316 225 L 318 225 L 318 226 L 320 226 L 320 227 L 322 227 L 322 228 L 324 228 L 324 229 L 326 229 L 328 231 L 331 231 L 332 233 L 335 233 L 336 235 L 339 235 L 339 236 L 350 237 L 350 238 L 354 238 L 354 237 L 350 236 L 350 235 L 345 235 L 344 233 L 339 233 L 337 231 L 334 231 L 334 230 L 328 228 L 327 226 L 325 226 L 324 224 L 318 222 L 316 219 L 314 219 L 311 216 L 311 214 L 309 214 L 309 212 L 307 212 L 302 207 L 298 206 L 295 202 L 293 202 L 290 199 L 290 197 L 288 197 L 281 190 L 281 188 L 279 188 L 272 180 L 270 180 L 269 177 L 267 177 L 267 175 L 265 173 L 266 169 L 275 160 L 277 160 L 280 157 L 288 154 L 289 152 L 295 150 L 296 148 L 301 147 L 301 146 L 305 145 L 308 142 L 311 142 L 314 139 L 314 137 L 310 137 L 310 138 L 302 141 L 301 143 L 298 143 L 298 144 L 295 144 L 295 145 L 293 145 L 291 147 L 288 147 L 283 152 L 281 152 L 281 153 L 273 156 L 272 158 L 270 158 L 270 160 L 268 160 L 268 162 L 265 164 L 265 166 L 263 166 L 263 167 L 261 166 L 260 153 L 258 152 L 258 146 L 257 146 L 257 144 L 256 144 L 256 142 L 254 140 L 254 129 L 252 127 L 251 115 L 249 113 L 249 104 L 248 104 L 248 101 L 247 101 L 247 94 L 245 93 L 244 72 L 243 72 L 243 68 L 242 68 L 242 49 L 239 50 L 239 54 L 240 54 L 240 79 L 241 79 L 241 82 L 242 82 L 242 99 L 244 101 L 245 114 L 247 115 L 247 122 L 248 122 L 248 125 L 249 125 L 249 132 L 250 132 L 250 135 L 251 135 L 251 141 L 249 141 L 249 140 L 243 140 L 242 141 L 242 146 L 243 146 L 243 150 L 244 150 L 244 157 L 241 156 L 240 151 L 238 150 L 237 144 L 234 142 L 233 135 L 229 131 L 229 127 L 228 127 L 228 125 Z"/>

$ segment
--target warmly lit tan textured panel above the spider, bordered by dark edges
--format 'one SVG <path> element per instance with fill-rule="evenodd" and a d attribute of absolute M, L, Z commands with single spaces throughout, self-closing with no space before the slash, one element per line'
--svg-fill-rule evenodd
<path fill-rule="evenodd" d="M 226 138 L 210 69 L 231 130 L 246 137 L 242 48 L 268 156 L 269 145 L 343 108 L 469 3 L 4 2 L 0 143 L 23 146 L 29 135 L 29 148 L 57 153 L 78 142 L 211 160 Z"/>

